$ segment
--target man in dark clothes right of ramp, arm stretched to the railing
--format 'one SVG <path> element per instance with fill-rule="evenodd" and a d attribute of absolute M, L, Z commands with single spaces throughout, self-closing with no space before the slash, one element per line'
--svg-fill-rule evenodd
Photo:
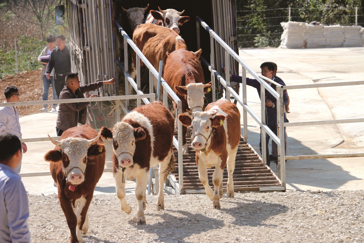
<path fill-rule="evenodd" d="M 264 77 L 270 78 L 271 80 L 275 81 L 273 76 L 274 71 L 274 65 L 272 62 L 263 62 L 262 65 L 260 65 L 261 68 L 261 74 Z M 230 74 L 231 81 L 242 83 L 242 77 Z M 267 84 L 269 84 L 274 90 L 276 90 L 276 85 L 269 81 L 265 81 Z M 277 82 L 277 80 L 276 80 Z M 246 78 L 246 84 L 249 86 L 252 86 L 257 89 L 258 95 L 260 97 L 260 82 L 256 79 L 252 78 Z M 280 85 L 285 85 L 282 82 L 278 82 Z M 283 105 L 286 105 L 288 103 L 288 97 L 287 97 L 287 91 L 283 91 Z M 277 135 L 277 99 L 274 98 L 274 96 L 269 93 L 267 90 L 265 90 L 265 119 L 266 119 L 266 125 L 269 127 L 270 130 L 274 132 L 274 134 Z M 266 133 L 266 159 L 267 159 L 267 165 L 270 166 L 270 158 L 269 158 L 269 135 Z M 284 138 L 282 139 L 284 141 Z M 262 135 L 260 136 L 260 153 L 262 153 Z"/>

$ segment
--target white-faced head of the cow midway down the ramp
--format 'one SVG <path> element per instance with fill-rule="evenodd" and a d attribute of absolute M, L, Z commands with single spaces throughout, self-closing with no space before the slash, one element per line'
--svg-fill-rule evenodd
<path fill-rule="evenodd" d="M 208 84 L 202 83 L 193 83 L 188 84 L 187 86 L 174 86 L 177 93 L 181 96 L 187 95 L 187 104 L 189 108 L 191 108 L 192 112 L 203 110 L 203 99 L 205 98 L 205 94 L 208 93 L 211 89 L 212 82 Z"/>

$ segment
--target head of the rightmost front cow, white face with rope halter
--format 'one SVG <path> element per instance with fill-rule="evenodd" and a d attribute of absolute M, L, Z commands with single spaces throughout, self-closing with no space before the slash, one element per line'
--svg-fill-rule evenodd
<path fill-rule="evenodd" d="M 213 127 L 221 126 L 225 121 L 225 116 L 216 115 L 216 110 L 207 112 L 193 112 L 191 115 L 180 114 L 178 116 L 183 126 L 191 126 L 193 149 L 205 149 L 208 142 L 211 141 Z"/>

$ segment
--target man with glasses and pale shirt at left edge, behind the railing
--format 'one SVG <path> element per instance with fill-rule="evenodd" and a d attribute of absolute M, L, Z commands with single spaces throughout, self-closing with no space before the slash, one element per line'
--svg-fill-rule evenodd
<path fill-rule="evenodd" d="M 4 88 L 5 101 L 4 103 L 11 102 L 19 102 L 20 94 L 19 89 L 14 85 L 9 85 Z M 20 132 L 20 123 L 19 123 L 19 114 L 15 109 L 15 106 L 3 106 L 0 107 L 0 133 L 8 132 L 16 135 L 18 138 L 21 138 Z M 27 145 L 25 143 L 21 143 L 21 148 L 23 153 L 25 153 L 27 149 Z M 21 168 L 20 164 L 15 168 L 15 171 L 19 174 Z"/>

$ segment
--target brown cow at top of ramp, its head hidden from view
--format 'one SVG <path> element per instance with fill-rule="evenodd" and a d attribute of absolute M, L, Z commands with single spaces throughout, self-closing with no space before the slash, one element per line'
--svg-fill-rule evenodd
<path fill-rule="evenodd" d="M 185 41 L 176 32 L 163 26 L 155 24 L 141 24 L 133 33 L 133 41 L 135 45 L 142 51 L 144 56 L 148 59 L 151 65 L 156 70 L 159 69 L 159 60 L 163 61 L 162 77 L 164 67 L 167 60 L 167 52 L 171 53 L 174 50 L 186 49 Z M 130 76 L 135 79 L 137 75 L 136 70 L 136 56 L 133 54 L 133 63 L 131 66 Z M 142 65 L 142 62 L 141 62 Z M 154 89 L 157 90 L 157 78 L 154 77 Z M 132 89 L 132 88 L 130 88 Z M 130 94 L 132 94 L 130 92 Z"/>

